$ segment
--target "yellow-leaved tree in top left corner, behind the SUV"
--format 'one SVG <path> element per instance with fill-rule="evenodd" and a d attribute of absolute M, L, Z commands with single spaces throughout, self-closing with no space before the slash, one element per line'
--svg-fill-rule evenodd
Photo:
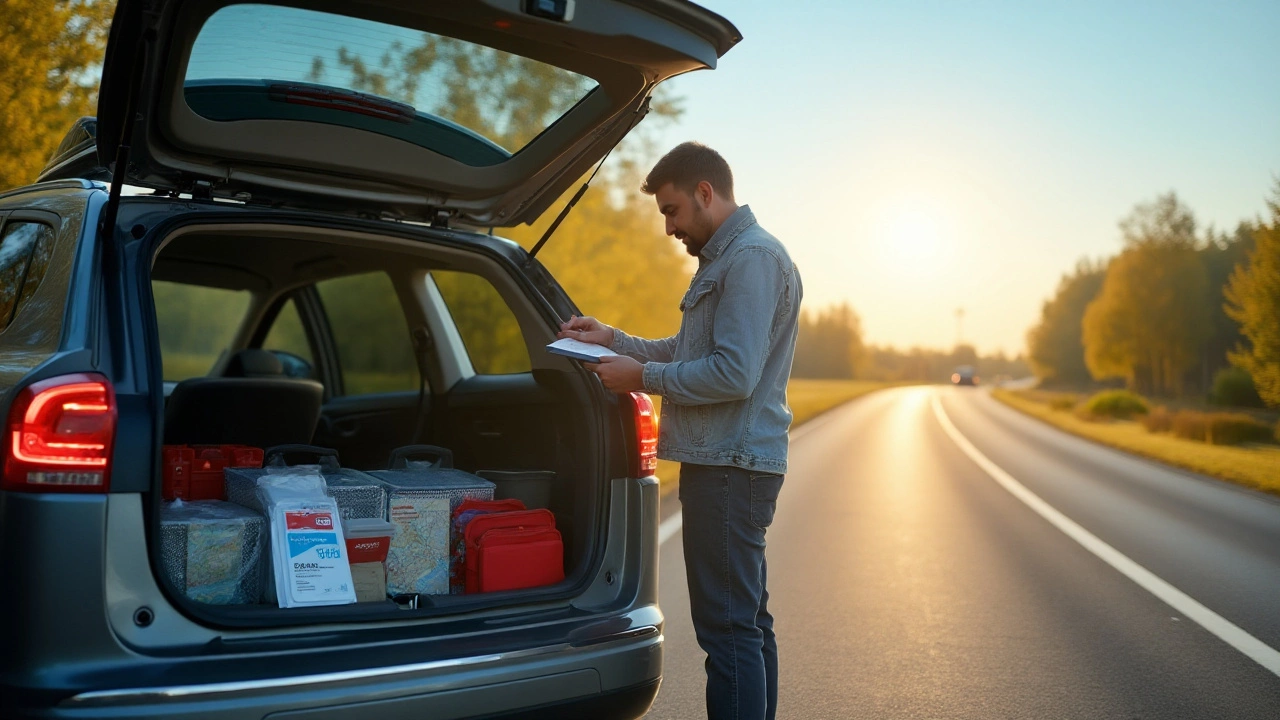
<path fill-rule="evenodd" d="M 0 0 L 0 190 L 26 184 L 93 114 L 115 3 Z"/>

